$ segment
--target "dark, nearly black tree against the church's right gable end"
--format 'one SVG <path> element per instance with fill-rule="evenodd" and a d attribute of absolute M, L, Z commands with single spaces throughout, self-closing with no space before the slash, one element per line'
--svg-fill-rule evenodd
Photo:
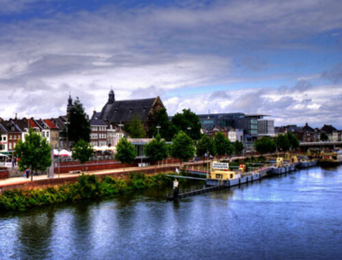
<path fill-rule="evenodd" d="M 171 121 L 169 120 L 168 113 L 166 112 L 166 109 L 159 109 L 155 114 L 150 115 L 149 118 L 149 124 L 148 124 L 148 136 L 157 136 L 158 129 L 157 126 L 160 126 L 159 128 L 159 134 L 161 138 L 171 141 L 174 134 L 176 133 L 176 127 L 171 124 Z"/>

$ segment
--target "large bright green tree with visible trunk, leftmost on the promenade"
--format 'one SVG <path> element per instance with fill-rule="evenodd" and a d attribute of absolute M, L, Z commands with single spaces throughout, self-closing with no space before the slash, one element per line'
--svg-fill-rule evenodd
<path fill-rule="evenodd" d="M 51 146 L 47 139 L 43 139 L 32 128 L 29 129 L 29 134 L 25 136 L 25 142 L 19 139 L 14 149 L 16 156 L 21 159 L 18 161 L 19 169 L 21 171 L 31 170 L 31 181 L 34 179 L 33 172 L 45 171 L 51 166 Z"/>

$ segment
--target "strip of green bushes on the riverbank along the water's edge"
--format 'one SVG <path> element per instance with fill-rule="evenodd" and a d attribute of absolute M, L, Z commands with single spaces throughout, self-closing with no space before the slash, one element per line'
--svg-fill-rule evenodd
<path fill-rule="evenodd" d="M 0 212 L 24 211 L 40 205 L 112 197 L 123 192 L 166 185 L 172 186 L 172 178 L 163 174 L 146 176 L 135 173 L 129 179 L 107 176 L 102 180 L 96 175 L 81 175 L 75 184 L 34 190 L 6 190 L 0 197 Z"/>

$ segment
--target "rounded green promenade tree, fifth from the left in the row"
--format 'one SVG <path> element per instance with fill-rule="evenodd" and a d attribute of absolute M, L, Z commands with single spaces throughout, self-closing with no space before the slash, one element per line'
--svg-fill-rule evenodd
<path fill-rule="evenodd" d="M 183 131 L 179 131 L 174 139 L 172 139 L 171 155 L 173 158 L 181 160 L 189 160 L 194 156 L 195 148 L 194 142 Z"/>

